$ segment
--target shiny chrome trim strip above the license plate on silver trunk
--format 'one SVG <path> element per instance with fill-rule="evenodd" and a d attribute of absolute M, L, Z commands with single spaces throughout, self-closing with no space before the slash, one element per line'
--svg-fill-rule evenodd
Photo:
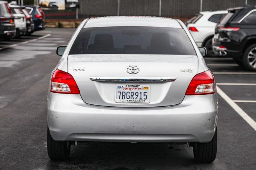
<path fill-rule="evenodd" d="M 89 77 L 96 82 L 174 82 L 176 77 Z"/>

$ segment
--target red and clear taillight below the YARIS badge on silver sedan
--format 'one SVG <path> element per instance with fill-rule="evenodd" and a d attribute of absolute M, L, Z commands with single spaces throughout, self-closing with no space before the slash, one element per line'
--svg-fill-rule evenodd
<path fill-rule="evenodd" d="M 186 95 L 214 94 L 215 83 L 212 72 L 207 70 L 196 74 L 188 85 Z"/>

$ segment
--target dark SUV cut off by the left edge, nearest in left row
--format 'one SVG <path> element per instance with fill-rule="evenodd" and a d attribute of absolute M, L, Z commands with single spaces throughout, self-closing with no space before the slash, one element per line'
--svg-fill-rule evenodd
<path fill-rule="evenodd" d="M 14 16 L 8 2 L 0 1 L 0 38 L 10 39 L 16 35 Z"/>

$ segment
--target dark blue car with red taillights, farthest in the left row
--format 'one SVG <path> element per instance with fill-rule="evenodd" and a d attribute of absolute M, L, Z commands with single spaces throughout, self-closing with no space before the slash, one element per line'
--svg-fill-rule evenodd
<path fill-rule="evenodd" d="M 26 6 L 29 14 L 32 15 L 34 21 L 34 31 L 45 29 L 45 14 L 40 8 L 40 6 Z"/>

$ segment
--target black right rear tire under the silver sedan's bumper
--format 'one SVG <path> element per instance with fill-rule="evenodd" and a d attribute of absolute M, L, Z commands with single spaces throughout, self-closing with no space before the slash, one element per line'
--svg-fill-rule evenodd
<path fill-rule="evenodd" d="M 213 162 L 217 154 L 217 129 L 212 140 L 208 143 L 194 143 L 194 158 L 197 162 L 210 163 Z"/>

